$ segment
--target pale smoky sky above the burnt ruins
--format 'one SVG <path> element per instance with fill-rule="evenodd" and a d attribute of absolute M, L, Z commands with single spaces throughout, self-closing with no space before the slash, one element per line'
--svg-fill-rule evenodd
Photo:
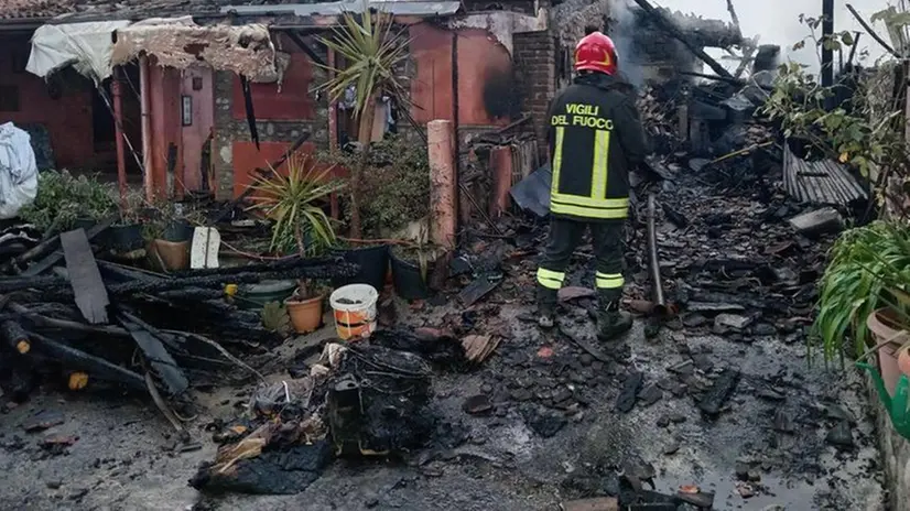
<path fill-rule="evenodd" d="M 692 12 L 703 18 L 725 21 L 730 19 L 726 0 L 651 0 L 651 3 L 671 10 Z M 835 32 L 842 30 L 865 32 L 846 9 L 847 3 L 853 4 L 868 22 L 876 11 L 893 4 L 895 0 L 835 0 Z M 805 48 L 793 52 L 792 46 L 809 35 L 809 29 L 800 24 L 800 13 L 804 13 L 806 17 L 820 17 L 822 0 L 734 0 L 733 4 L 739 17 L 744 36 L 759 35 L 759 44 L 779 44 L 782 53 L 790 58 L 813 67 L 817 66 L 819 59 L 813 56 L 812 50 Z M 875 29 L 885 41 L 890 42 L 881 23 L 878 23 Z M 865 48 L 869 50 L 870 59 L 884 54 L 878 44 L 864 34 L 859 41 L 858 51 Z M 716 52 L 709 53 L 717 56 Z M 834 58 L 837 62 L 836 54 Z"/>

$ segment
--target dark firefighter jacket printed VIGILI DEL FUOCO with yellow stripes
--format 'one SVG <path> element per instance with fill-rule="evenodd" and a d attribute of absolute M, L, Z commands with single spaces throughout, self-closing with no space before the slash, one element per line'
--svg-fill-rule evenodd
<path fill-rule="evenodd" d="M 550 106 L 553 185 L 550 213 L 582 221 L 621 220 L 629 211 L 629 171 L 646 155 L 644 134 L 627 84 L 591 73 Z"/>

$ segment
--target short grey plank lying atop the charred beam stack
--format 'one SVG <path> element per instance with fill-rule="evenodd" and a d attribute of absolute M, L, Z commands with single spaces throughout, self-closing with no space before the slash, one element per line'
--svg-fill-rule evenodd
<path fill-rule="evenodd" d="M 107 307 L 110 305 L 105 281 L 84 229 L 71 230 L 59 237 L 69 285 L 76 294 L 76 305 L 83 317 L 93 325 L 108 322 Z"/>

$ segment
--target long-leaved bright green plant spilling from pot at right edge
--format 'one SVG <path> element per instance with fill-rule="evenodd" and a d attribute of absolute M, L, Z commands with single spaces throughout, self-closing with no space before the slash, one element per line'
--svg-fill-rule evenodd
<path fill-rule="evenodd" d="M 869 346 L 866 318 L 891 307 L 907 318 L 902 296 L 910 291 L 910 231 L 878 221 L 844 232 L 834 243 L 821 281 L 819 316 L 813 339 L 821 340 L 824 358 L 843 362 L 844 339 L 854 343 L 854 356 Z"/>

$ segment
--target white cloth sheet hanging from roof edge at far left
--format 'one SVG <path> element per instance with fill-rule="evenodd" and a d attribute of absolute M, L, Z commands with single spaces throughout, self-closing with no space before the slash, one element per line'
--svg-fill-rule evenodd
<path fill-rule="evenodd" d="M 112 73 L 113 32 L 129 25 L 129 21 L 100 21 L 40 26 L 25 69 L 43 78 L 72 65 L 100 83 Z"/>

